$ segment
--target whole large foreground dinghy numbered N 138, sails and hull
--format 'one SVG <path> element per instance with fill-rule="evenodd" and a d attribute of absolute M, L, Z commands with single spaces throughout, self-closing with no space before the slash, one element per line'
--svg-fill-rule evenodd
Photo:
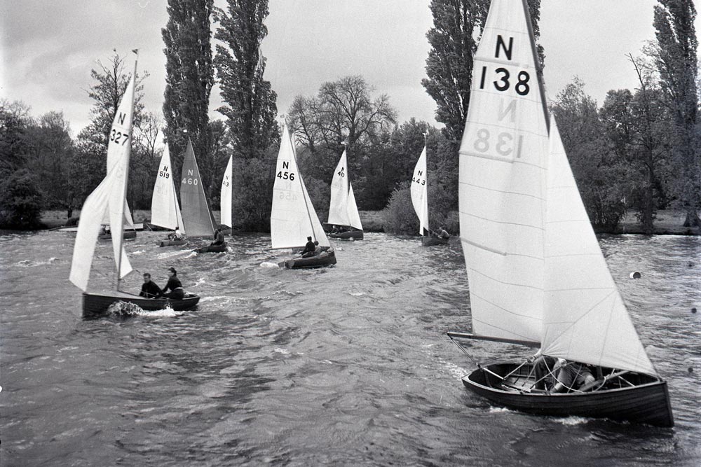
<path fill-rule="evenodd" d="M 528 11 L 526 0 L 492 0 L 475 55 L 459 193 L 473 334 L 448 334 L 456 343 L 540 347 L 536 356 L 590 365 L 596 376 L 563 392 L 537 389 L 529 359 L 479 365 L 463 384 L 526 412 L 673 426 L 667 383 L 633 327 L 547 118 Z"/>

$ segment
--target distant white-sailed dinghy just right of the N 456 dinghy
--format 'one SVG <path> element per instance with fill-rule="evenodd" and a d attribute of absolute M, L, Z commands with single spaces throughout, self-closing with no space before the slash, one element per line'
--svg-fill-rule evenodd
<path fill-rule="evenodd" d="M 348 180 L 346 151 L 343 151 L 331 181 L 329 221 L 324 224 L 324 230 L 331 238 L 362 240 L 362 223 L 360 223 L 358 205 L 355 204 L 353 186 Z"/>

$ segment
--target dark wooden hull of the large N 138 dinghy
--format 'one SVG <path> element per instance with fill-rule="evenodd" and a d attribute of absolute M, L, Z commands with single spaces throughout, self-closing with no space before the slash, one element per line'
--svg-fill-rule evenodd
<path fill-rule="evenodd" d="M 486 365 L 487 370 L 505 376 L 518 367 L 516 363 Z M 528 379 L 531 365 L 524 365 L 512 379 Z M 658 377 L 629 373 L 634 386 L 605 386 L 597 391 L 578 393 L 545 393 L 519 391 L 514 386 L 503 386 L 502 379 L 479 368 L 463 377 L 463 384 L 471 391 L 492 402 L 522 412 L 557 417 L 607 418 L 655 426 L 674 426 L 672 407 L 669 405 L 667 382 Z M 532 379 L 530 380 L 533 381 Z"/>

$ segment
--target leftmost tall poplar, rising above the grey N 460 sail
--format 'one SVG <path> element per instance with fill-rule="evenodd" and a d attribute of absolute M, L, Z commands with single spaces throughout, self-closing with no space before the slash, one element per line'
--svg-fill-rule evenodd
<path fill-rule="evenodd" d="M 165 137 L 179 173 L 187 139 L 200 164 L 211 151 L 209 126 L 212 68 L 211 18 L 214 0 L 168 0 L 168 24 L 161 30 L 165 43 Z M 205 180 L 205 183 L 212 183 Z"/>

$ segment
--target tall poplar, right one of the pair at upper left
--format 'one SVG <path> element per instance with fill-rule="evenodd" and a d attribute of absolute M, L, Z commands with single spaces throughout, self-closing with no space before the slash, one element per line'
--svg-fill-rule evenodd
<path fill-rule="evenodd" d="M 260 53 L 268 35 L 268 0 L 227 0 L 227 5 L 217 11 L 215 38 L 222 43 L 215 67 L 224 101 L 217 111 L 226 116 L 234 153 L 255 158 L 279 139 L 278 96 L 263 78 L 266 60 Z"/>

